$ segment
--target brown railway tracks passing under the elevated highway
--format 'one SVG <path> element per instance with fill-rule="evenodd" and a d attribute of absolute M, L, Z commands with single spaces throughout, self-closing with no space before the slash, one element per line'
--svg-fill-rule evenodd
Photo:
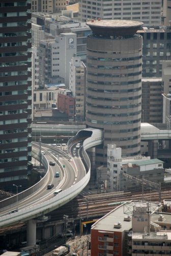
<path fill-rule="evenodd" d="M 115 198 L 113 198 L 113 196 Z M 100 195 L 91 195 L 85 196 L 83 198 L 75 198 L 71 202 L 65 204 L 63 207 L 59 208 L 56 211 L 51 213 L 50 221 L 57 221 L 63 218 L 64 214 L 67 214 L 69 218 L 79 219 L 81 218 L 91 218 L 91 217 L 101 217 L 111 210 L 115 209 L 124 201 L 130 200 L 150 200 L 150 201 L 159 201 L 158 192 L 148 192 L 142 195 L 141 193 L 121 193 L 117 194 L 100 194 Z M 171 190 L 161 191 L 161 202 L 163 199 L 171 199 Z M 25 225 L 24 222 L 18 223 L 14 226 L 9 226 L 3 229 L 0 229 L 0 234 L 5 232 L 14 231 L 15 229 L 21 228 Z"/>

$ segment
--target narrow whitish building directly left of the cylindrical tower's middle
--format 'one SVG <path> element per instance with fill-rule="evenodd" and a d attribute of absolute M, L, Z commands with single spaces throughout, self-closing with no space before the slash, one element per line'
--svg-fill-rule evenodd
<path fill-rule="evenodd" d="M 86 66 L 79 57 L 70 61 L 69 89 L 75 98 L 75 121 L 83 121 L 86 115 Z"/>

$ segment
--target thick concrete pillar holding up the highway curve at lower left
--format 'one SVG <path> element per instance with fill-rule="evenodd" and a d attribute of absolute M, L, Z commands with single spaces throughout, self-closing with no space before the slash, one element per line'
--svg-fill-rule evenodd
<path fill-rule="evenodd" d="M 36 245 L 36 220 L 27 221 L 27 246 Z"/>

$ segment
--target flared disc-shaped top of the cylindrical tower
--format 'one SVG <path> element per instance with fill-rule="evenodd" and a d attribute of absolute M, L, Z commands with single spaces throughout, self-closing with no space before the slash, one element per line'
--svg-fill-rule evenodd
<path fill-rule="evenodd" d="M 97 36 L 132 36 L 143 26 L 143 22 L 124 19 L 98 19 L 86 22 Z"/>

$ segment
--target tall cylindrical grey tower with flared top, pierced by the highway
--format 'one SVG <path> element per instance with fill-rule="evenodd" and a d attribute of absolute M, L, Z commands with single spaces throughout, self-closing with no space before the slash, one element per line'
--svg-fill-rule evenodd
<path fill-rule="evenodd" d="M 104 147 L 97 162 L 107 156 L 107 144 L 122 148 L 122 156 L 140 154 L 143 22 L 92 20 L 87 41 L 88 126 L 104 130 Z M 101 159 L 101 160 L 100 160 Z"/>

